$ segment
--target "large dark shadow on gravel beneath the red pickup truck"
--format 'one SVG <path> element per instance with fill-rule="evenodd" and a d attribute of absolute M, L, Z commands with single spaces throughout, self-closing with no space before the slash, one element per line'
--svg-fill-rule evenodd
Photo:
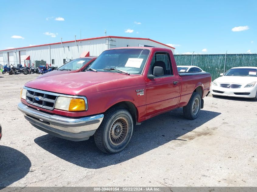
<path fill-rule="evenodd" d="M 127 147 L 120 153 L 112 155 L 103 154 L 96 147 L 93 138 L 73 142 L 47 134 L 34 141 L 43 149 L 70 163 L 85 168 L 99 169 L 127 161 L 172 140 L 187 142 L 189 139 L 179 139 L 179 137 L 220 114 L 201 110 L 196 120 L 186 120 L 182 108 L 161 114 L 135 126 Z"/>

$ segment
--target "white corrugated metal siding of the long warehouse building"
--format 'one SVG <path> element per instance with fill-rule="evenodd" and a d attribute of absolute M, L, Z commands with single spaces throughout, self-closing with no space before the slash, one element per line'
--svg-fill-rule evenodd
<path fill-rule="evenodd" d="M 89 39 L 81 42 L 77 41 L 77 45 L 75 45 L 75 42 L 62 43 L 63 47 L 61 46 L 61 44 L 28 47 L 26 48 L 26 55 L 30 55 L 31 63 L 33 63 L 35 60 L 44 60 L 48 64 L 50 64 L 52 62 L 52 59 L 54 59 L 54 66 L 60 67 L 63 65 L 63 59 L 76 59 L 85 51 L 89 51 L 90 56 L 99 56 L 106 49 L 115 47 L 126 47 L 127 45 L 136 47 L 138 46 L 138 44 L 149 45 L 154 47 L 168 48 L 171 49 L 172 52 L 174 52 L 174 49 L 169 48 L 165 45 L 161 45 L 159 43 L 152 42 L 150 40 L 119 38 L 111 39 L 113 39 L 114 41 L 108 41 L 105 38 L 101 38 L 91 40 Z M 7 52 L 13 52 L 15 63 L 19 63 L 19 51 L 24 51 L 24 49 L 3 51 L 4 62 L 8 61 Z"/>

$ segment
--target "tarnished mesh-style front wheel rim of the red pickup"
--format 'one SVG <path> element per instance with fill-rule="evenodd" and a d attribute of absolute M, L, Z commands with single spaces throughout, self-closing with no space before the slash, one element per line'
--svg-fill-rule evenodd
<path fill-rule="evenodd" d="M 109 132 L 109 139 L 113 145 L 120 145 L 128 135 L 128 121 L 119 117 L 113 121 Z"/>

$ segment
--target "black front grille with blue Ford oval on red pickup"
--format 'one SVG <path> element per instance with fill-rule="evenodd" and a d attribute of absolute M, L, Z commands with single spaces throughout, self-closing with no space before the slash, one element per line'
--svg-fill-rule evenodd
<path fill-rule="evenodd" d="M 57 96 L 49 93 L 46 94 L 31 90 L 27 90 L 26 93 L 27 103 L 47 110 L 54 110 L 56 98 Z"/>

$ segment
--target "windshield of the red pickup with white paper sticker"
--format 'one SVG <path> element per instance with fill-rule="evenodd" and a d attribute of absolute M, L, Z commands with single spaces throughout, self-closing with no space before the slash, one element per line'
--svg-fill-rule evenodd
<path fill-rule="evenodd" d="M 141 74 L 149 53 L 149 49 L 107 50 L 102 52 L 90 68 L 101 72 L 119 73 L 119 71 L 104 70 L 115 68 L 129 72 L 130 74 Z"/>

